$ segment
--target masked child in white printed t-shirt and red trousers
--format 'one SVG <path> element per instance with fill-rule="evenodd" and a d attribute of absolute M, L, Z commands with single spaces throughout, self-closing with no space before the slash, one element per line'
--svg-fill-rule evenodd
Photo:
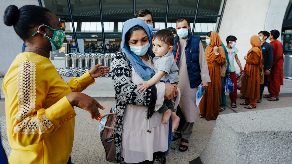
<path fill-rule="evenodd" d="M 230 69 L 229 78 L 233 81 L 233 84 L 236 84 L 236 73 L 235 73 L 236 69 L 234 67 L 234 59 L 239 66 L 240 73 L 242 72 L 241 63 L 237 56 L 238 49 L 235 47 L 236 40 L 237 38 L 232 35 L 226 38 L 226 43 L 227 43 L 226 50 L 228 53 L 229 69 Z M 232 93 L 229 93 L 229 97 L 231 100 L 231 108 L 236 108 L 237 107 L 236 106 L 236 100 L 237 100 L 237 86 L 236 85 L 234 85 L 234 91 Z"/>

